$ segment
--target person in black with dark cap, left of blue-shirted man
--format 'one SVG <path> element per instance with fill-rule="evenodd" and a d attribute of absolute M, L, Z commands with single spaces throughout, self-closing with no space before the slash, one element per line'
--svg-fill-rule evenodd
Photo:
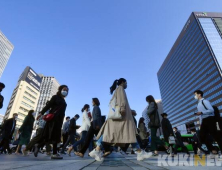
<path fill-rule="evenodd" d="M 162 113 L 161 116 L 163 117 L 161 121 L 162 129 L 163 129 L 163 137 L 165 142 L 169 143 L 169 137 L 174 136 L 173 133 L 173 128 L 172 125 L 167 118 L 168 114 L 167 113 Z M 169 151 L 170 151 L 170 156 L 174 156 L 173 154 L 173 144 L 169 144 Z"/>

